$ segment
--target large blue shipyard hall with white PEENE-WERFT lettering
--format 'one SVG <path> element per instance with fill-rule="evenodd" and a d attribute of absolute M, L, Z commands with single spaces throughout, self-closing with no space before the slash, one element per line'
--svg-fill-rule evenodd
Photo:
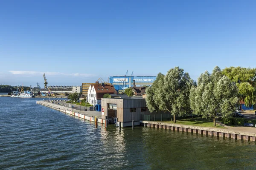
<path fill-rule="evenodd" d="M 156 78 L 156 76 L 110 76 L 109 81 L 118 93 L 122 93 L 124 89 L 133 86 L 151 86 Z"/>

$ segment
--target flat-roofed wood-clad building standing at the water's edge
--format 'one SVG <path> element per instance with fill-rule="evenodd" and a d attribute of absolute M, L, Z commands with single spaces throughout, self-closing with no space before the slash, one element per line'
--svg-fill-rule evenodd
<path fill-rule="evenodd" d="M 140 125 L 141 115 L 150 115 L 143 98 L 102 98 L 102 119 L 108 116 L 108 122 L 113 123 L 114 118 L 121 122 L 121 127 Z"/>

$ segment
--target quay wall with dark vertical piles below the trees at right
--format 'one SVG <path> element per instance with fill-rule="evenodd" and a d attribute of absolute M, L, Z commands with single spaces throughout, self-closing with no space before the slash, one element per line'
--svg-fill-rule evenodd
<path fill-rule="evenodd" d="M 179 125 L 172 123 L 164 123 L 164 122 L 154 122 L 154 121 L 140 121 L 140 123 L 144 126 L 153 127 L 153 128 L 162 128 L 166 130 L 176 130 L 186 133 L 196 133 L 206 136 L 217 136 L 229 139 L 236 140 L 247 140 L 250 142 L 256 142 L 256 133 L 249 132 L 240 132 L 240 131 L 231 131 L 226 129 L 216 129 L 209 127 L 198 127 L 198 126 L 190 126 L 190 125 Z"/>

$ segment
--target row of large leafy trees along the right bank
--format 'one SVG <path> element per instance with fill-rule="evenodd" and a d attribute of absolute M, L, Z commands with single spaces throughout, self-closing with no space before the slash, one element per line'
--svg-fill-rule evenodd
<path fill-rule="evenodd" d="M 152 86 L 146 89 L 149 111 L 169 112 L 176 116 L 201 115 L 213 119 L 232 116 L 243 101 L 248 107 L 256 103 L 256 68 L 230 67 L 212 73 L 205 71 L 195 82 L 179 67 L 166 75 L 157 74 Z"/>

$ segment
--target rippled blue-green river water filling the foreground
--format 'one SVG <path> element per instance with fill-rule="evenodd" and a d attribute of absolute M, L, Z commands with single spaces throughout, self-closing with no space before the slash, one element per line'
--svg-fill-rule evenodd
<path fill-rule="evenodd" d="M 107 129 L 0 97 L 3 170 L 255 170 L 256 144 L 149 127 Z"/>

